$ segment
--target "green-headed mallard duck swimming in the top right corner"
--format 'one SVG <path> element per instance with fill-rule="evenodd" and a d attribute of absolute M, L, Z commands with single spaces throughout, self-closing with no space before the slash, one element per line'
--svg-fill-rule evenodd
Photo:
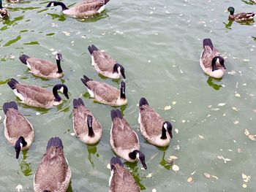
<path fill-rule="evenodd" d="M 234 12 L 235 12 L 234 7 L 228 7 L 227 12 L 230 12 L 228 19 L 235 20 L 237 22 L 250 21 L 250 20 L 253 20 L 253 18 L 255 17 L 255 12 L 241 12 L 238 14 L 234 14 Z"/>

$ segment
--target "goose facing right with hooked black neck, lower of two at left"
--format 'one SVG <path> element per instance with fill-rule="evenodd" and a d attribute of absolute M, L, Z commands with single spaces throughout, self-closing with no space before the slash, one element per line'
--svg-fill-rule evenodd
<path fill-rule="evenodd" d="M 63 100 L 59 96 L 58 91 L 64 93 L 64 96 L 69 99 L 66 85 L 55 85 L 53 87 L 53 93 L 51 93 L 48 89 L 41 88 L 37 85 L 20 84 L 13 78 L 7 84 L 12 88 L 12 91 L 22 103 L 33 107 L 49 108 L 61 104 Z"/>

